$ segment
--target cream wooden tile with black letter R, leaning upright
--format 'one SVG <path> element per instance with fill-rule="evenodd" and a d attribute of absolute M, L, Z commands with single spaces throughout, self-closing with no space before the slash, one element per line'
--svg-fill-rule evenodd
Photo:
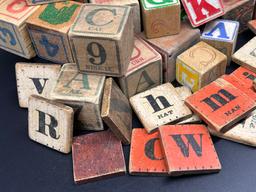
<path fill-rule="evenodd" d="M 28 102 L 29 138 L 62 153 L 69 153 L 73 138 L 71 107 L 32 95 Z"/>

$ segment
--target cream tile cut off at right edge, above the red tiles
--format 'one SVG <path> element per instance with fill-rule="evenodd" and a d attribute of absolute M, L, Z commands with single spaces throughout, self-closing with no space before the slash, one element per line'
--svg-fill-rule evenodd
<path fill-rule="evenodd" d="M 251 39 L 232 56 L 232 60 L 256 72 L 256 37 Z"/>

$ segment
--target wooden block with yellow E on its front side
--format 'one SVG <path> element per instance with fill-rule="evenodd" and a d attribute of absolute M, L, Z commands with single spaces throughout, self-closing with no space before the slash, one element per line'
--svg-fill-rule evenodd
<path fill-rule="evenodd" d="M 226 66 L 226 55 L 199 42 L 177 57 L 176 80 L 196 92 L 225 74 Z"/>

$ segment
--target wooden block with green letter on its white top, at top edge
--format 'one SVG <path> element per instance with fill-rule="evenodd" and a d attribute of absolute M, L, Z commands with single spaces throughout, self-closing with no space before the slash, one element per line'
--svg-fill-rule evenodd
<path fill-rule="evenodd" d="M 143 27 L 147 38 L 180 32 L 180 1 L 140 0 Z"/>

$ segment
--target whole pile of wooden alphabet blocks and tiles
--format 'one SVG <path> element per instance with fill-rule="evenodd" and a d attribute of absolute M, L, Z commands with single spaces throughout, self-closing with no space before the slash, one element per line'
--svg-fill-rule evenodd
<path fill-rule="evenodd" d="M 51 62 L 16 64 L 19 105 L 75 183 L 125 174 L 122 144 L 131 175 L 213 173 L 210 134 L 256 146 L 256 37 L 235 52 L 255 19 L 255 0 L 0 0 L 0 47 Z"/>

